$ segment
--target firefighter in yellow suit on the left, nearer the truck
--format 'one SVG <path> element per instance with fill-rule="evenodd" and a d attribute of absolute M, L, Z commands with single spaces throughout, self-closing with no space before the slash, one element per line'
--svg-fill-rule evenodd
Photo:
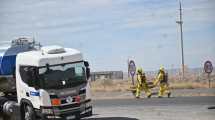
<path fill-rule="evenodd" d="M 147 97 L 151 97 L 151 91 L 146 83 L 146 76 L 142 68 L 137 70 L 137 86 L 136 86 L 136 98 L 140 98 L 140 92 L 144 90 Z"/>

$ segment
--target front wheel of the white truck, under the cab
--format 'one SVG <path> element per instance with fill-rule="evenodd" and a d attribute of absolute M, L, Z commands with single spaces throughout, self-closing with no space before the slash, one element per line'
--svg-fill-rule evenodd
<path fill-rule="evenodd" d="M 32 106 L 25 104 L 24 105 L 24 120 L 36 120 L 35 112 Z"/>

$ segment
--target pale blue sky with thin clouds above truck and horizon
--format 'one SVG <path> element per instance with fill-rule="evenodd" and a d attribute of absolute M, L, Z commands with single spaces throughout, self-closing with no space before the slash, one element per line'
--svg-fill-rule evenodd
<path fill-rule="evenodd" d="M 215 63 L 215 1 L 183 0 L 185 64 Z M 19 36 L 79 49 L 93 71 L 178 68 L 177 0 L 1 0 L 0 47 Z"/>

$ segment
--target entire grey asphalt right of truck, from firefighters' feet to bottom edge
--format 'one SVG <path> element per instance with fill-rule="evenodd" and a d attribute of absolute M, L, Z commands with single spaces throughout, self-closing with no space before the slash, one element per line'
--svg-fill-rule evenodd
<path fill-rule="evenodd" d="M 215 118 L 215 97 L 95 100 L 93 106 L 94 115 L 84 120 L 213 120 Z"/>

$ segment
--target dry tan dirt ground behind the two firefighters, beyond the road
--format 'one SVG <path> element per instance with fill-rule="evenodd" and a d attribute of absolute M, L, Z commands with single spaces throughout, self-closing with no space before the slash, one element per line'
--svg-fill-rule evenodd
<path fill-rule="evenodd" d="M 152 80 L 149 79 L 148 82 L 151 82 Z M 136 81 L 134 81 L 136 82 Z M 136 83 L 135 83 L 136 84 Z M 96 80 L 91 82 L 91 90 L 92 92 L 126 92 L 131 87 L 135 86 L 132 85 L 131 80 L 109 80 L 109 79 L 103 79 L 103 80 Z M 208 81 L 206 80 L 200 80 L 200 81 L 193 81 L 193 80 L 187 80 L 187 81 L 176 81 L 176 80 L 170 80 L 169 81 L 169 87 L 172 90 L 176 89 L 207 89 L 209 88 Z M 155 88 L 152 88 L 152 90 L 158 89 L 159 86 L 156 86 Z M 211 81 L 210 88 L 215 88 L 215 80 Z"/>

